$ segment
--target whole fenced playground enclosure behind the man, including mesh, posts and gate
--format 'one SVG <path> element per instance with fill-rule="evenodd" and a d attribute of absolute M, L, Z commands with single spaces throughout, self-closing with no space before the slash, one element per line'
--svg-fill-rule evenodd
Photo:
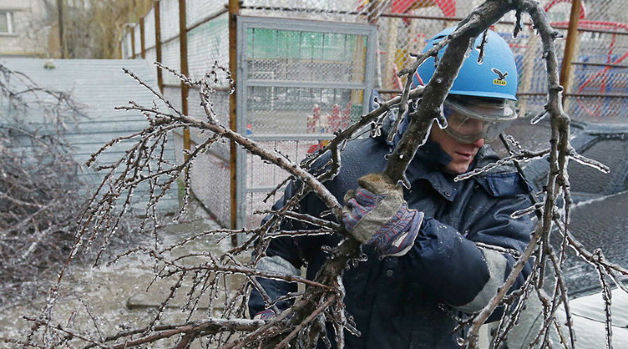
<path fill-rule="evenodd" d="M 230 87 L 220 77 L 214 95 L 218 121 L 229 124 L 231 118 L 239 125 L 237 131 L 299 161 L 363 114 L 368 86 L 378 89 L 383 98 L 401 91 L 405 81 L 397 73 L 408 66 L 410 54 L 421 52 L 428 38 L 455 25 L 482 1 L 244 0 L 237 11 L 240 16 L 258 17 L 268 24 L 279 18 L 303 22 L 282 29 L 248 29 L 241 34 L 246 39 L 234 46 L 229 43 L 227 2 L 156 1 L 138 25 L 129 27 L 122 40 L 123 57 L 160 61 L 198 79 L 214 61 L 230 66 L 230 50 L 244 54 L 236 68 L 237 80 L 247 83 L 237 91 L 242 94 L 238 103 L 243 109 L 230 115 Z M 582 0 L 573 33 L 568 32 L 571 0 L 543 2 L 553 27 L 564 36 L 578 37 L 575 54 L 564 60 L 572 68 L 569 79 L 562 82 L 567 86 L 567 113 L 574 120 L 625 122 L 628 2 Z M 182 3 L 184 16 L 179 11 Z M 507 40 L 516 56 L 518 108 L 521 116 L 531 117 L 546 103 L 544 60 L 529 20 L 523 18 L 524 28 L 517 38 L 512 37 L 514 21 L 514 13 L 509 14 L 492 29 Z M 367 45 L 371 37 L 365 31 L 352 31 L 352 26 L 375 28 L 375 45 Z M 338 27 L 345 29 L 338 32 Z M 555 42 L 559 61 L 565 42 Z M 244 53 L 243 47 L 248 47 Z M 372 67 L 366 59 L 369 54 L 374 57 Z M 161 91 L 175 106 L 186 114 L 202 116 L 196 91 L 187 94 L 177 77 L 158 74 Z M 200 144 L 204 137 L 192 132 L 187 143 L 186 135 L 175 134 L 175 155 L 182 158 L 184 149 Z M 267 208 L 262 200 L 285 177 L 253 156 L 240 154 L 239 162 L 236 158 L 227 144 L 218 144 L 199 158 L 189 174 L 192 193 L 219 223 L 232 228 L 257 224 L 261 217 L 251 213 Z M 231 177 L 234 171 L 241 171 L 236 179 Z M 234 212 L 239 220 L 233 218 Z"/>

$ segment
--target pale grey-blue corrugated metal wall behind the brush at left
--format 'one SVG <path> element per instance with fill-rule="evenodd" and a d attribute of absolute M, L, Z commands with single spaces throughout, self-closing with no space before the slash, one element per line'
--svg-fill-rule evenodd
<path fill-rule="evenodd" d="M 10 69 L 20 71 L 35 81 L 40 87 L 66 91 L 73 101 L 80 105 L 84 116 L 78 116 L 73 121 L 66 121 L 66 140 L 74 147 L 75 159 L 85 163 L 100 147 L 117 137 L 140 131 L 148 126 L 147 119 L 140 112 L 116 111 L 114 107 L 128 105 L 128 101 L 135 101 L 140 105 L 151 106 L 156 99 L 150 91 L 137 84 L 126 75 L 122 68 L 128 68 L 138 75 L 144 82 L 156 89 L 154 70 L 144 60 L 118 59 L 57 59 L 52 62 L 56 68 L 46 69 L 45 59 L 2 59 L 3 64 Z M 1 110 L 6 114 L 6 101 L 0 101 Z M 29 109 L 26 116 L 29 127 L 47 132 L 50 127 L 45 124 L 41 113 Z M 0 122 L 7 121 L 4 117 Z M 118 161 L 133 141 L 116 144 L 109 151 L 98 157 L 99 165 L 108 165 Z M 174 142 L 167 143 L 165 151 L 167 161 L 174 161 Z M 96 186 L 103 179 L 103 174 L 84 166 L 80 179 L 85 183 L 86 194 L 94 193 Z M 133 207 L 143 210 L 146 202 L 147 188 L 138 188 L 133 198 Z M 174 211 L 179 207 L 177 188 L 160 200 L 160 211 Z"/>

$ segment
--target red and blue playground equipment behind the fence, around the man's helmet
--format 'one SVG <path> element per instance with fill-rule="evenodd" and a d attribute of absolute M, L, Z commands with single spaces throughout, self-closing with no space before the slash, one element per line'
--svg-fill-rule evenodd
<path fill-rule="evenodd" d="M 396 93 L 401 90 L 403 82 L 397 77 L 397 71 L 408 65 L 408 52 L 420 52 L 425 41 L 435 32 L 444 27 L 454 25 L 461 17 L 456 13 L 468 13 L 468 8 L 460 8 L 456 1 L 399 1 L 414 6 L 397 6 L 398 10 L 391 10 L 380 17 L 396 19 L 389 20 L 387 28 L 386 49 L 380 54 L 386 64 L 382 67 L 384 78 L 382 90 Z M 462 1 L 459 1 L 462 2 Z M 550 18 L 552 26 L 567 36 L 569 26 L 569 11 L 571 0 L 547 1 L 544 8 Z M 417 3 L 421 4 L 418 6 Z M 620 13 L 622 6 L 628 4 L 620 1 L 602 1 L 596 3 L 596 8 L 588 10 L 587 1 L 581 2 L 578 21 L 577 54 L 571 57 L 569 64 L 573 66 L 569 81 L 563 82 L 567 86 L 565 92 L 565 107 L 574 119 L 586 119 L 594 122 L 616 122 L 625 117 L 628 101 L 628 15 L 623 15 L 619 21 L 609 21 L 613 8 Z M 458 8 L 456 10 L 456 5 Z M 475 3 L 473 5 L 476 5 Z M 394 7 L 393 7 L 394 8 Z M 456 12 L 457 11 L 457 12 Z M 410 14 L 411 13 L 411 14 Z M 605 14 L 602 16 L 602 14 Z M 601 18 L 604 17 L 604 20 Z M 400 21 L 401 19 L 401 21 Z M 518 89 L 520 107 L 523 114 L 534 114 L 544 105 L 546 94 L 544 61 L 541 58 L 539 40 L 534 35 L 530 24 L 525 24 L 525 30 L 517 39 L 512 38 L 511 31 L 514 24 L 512 18 L 504 18 L 502 22 L 492 27 L 504 39 L 516 55 L 518 73 L 521 84 Z M 431 24 L 427 24 L 431 23 Z M 440 26 L 435 26 L 435 24 Z M 525 23 L 525 21 L 524 21 Z M 380 29 L 381 30 L 381 29 Z M 386 30 L 386 29 L 384 29 Z M 381 37 L 381 36 L 380 36 Z M 558 41 L 559 52 L 562 54 L 564 41 Z"/>

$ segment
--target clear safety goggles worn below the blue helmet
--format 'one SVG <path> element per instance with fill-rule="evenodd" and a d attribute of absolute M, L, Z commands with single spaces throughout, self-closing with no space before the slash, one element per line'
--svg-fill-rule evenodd
<path fill-rule="evenodd" d="M 480 138 L 493 142 L 517 118 L 508 101 L 479 98 L 447 98 L 443 103 L 447 128 L 444 131 L 456 140 L 471 144 Z"/>

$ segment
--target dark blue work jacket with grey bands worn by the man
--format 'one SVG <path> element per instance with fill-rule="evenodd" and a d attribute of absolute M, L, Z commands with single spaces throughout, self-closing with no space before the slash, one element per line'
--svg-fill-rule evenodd
<path fill-rule="evenodd" d="M 343 195 L 357 187 L 357 179 L 382 172 L 384 156 L 394 144 L 384 138 L 349 142 L 338 176 L 325 185 L 343 202 Z M 498 168 L 473 179 L 454 181 L 443 170 L 449 162 L 440 146 L 429 142 L 419 148 L 406 172 L 410 190 L 405 200 L 424 211 L 425 220 L 412 249 L 401 257 L 379 260 L 375 251 L 363 245 L 368 260 L 347 269 L 343 275 L 345 304 L 361 336 L 345 334 L 347 348 L 460 348 L 452 333 L 453 315 L 481 309 L 509 274 L 515 258 L 479 248 L 474 242 L 523 251 L 530 241 L 532 223 L 528 217 L 514 219 L 511 213 L 529 207 L 528 184 L 513 168 Z M 485 146 L 479 149 L 472 167 L 498 160 Z M 294 193 L 287 187 L 285 198 Z M 283 206 L 283 200 L 275 208 Z M 310 194 L 301 202 L 301 211 L 320 216 L 327 208 Z M 286 222 L 284 229 L 302 228 Z M 338 236 L 281 238 L 271 242 L 262 268 L 298 273 L 307 265 L 313 279 L 327 258 L 321 246 L 336 246 Z M 526 267 L 514 288 L 529 274 Z M 269 297 L 294 292 L 297 286 L 283 281 L 260 279 Z M 513 289 L 514 289 L 513 288 Z M 289 304 L 280 304 L 285 309 Z M 249 310 L 264 310 L 264 301 L 251 292 Z M 333 338 L 333 330 L 329 332 Z"/>

